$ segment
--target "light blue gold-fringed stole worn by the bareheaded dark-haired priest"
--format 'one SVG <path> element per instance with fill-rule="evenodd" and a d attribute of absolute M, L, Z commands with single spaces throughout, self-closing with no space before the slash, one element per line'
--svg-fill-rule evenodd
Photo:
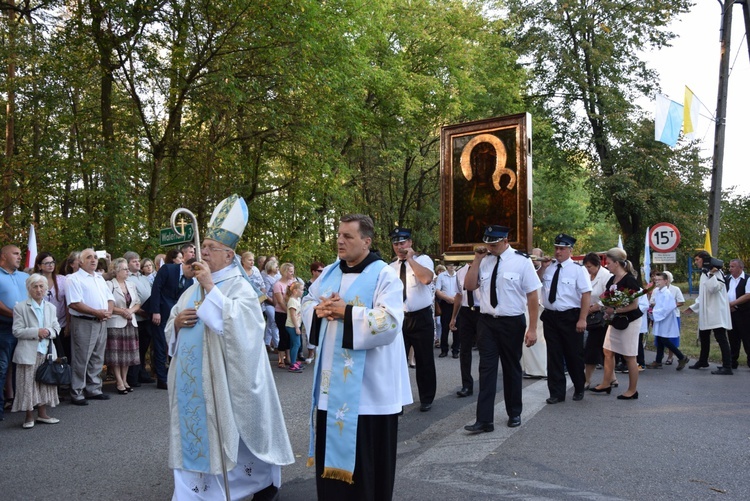
<path fill-rule="evenodd" d="M 367 266 L 354 280 L 342 299 L 347 305 L 372 308 L 380 271 L 387 266 L 378 260 Z M 334 263 L 325 276 L 321 277 L 323 296 L 338 292 L 343 273 L 339 261 Z M 312 466 L 315 458 L 315 429 L 313 418 L 318 405 L 316 389 L 321 383 L 321 354 L 326 343 L 335 342 L 330 383 L 328 386 L 328 413 L 326 419 L 326 446 L 323 478 L 333 478 L 353 483 L 354 462 L 357 444 L 357 421 L 359 418 L 359 398 L 362 390 L 365 357 L 367 350 L 347 349 L 342 346 L 344 320 L 336 321 L 336 336 L 328 338 L 328 321 L 323 319 L 320 326 L 318 357 L 315 360 L 315 374 L 310 413 L 310 448 L 307 464 Z M 323 391 L 323 389 L 321 389 Z"/>

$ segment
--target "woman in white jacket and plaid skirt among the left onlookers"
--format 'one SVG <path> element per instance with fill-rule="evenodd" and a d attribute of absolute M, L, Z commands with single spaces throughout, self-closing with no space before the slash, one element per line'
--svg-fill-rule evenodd
<path fill-rule="evenodd" d="M 139 365 L 138 323 L 135 312 L 141 309 L 141 301 L 135 284 L 128 280 L 128 262 L 118 257 L 112 263 L 112 280 L 107 287 L 115 298 L 115 308 L 107 320 L 107 349 L 104 363 L 111 369 L 117 382 L 117 393 L 126 395 L 133 391 L 128 385 L 128 368 Z"/>

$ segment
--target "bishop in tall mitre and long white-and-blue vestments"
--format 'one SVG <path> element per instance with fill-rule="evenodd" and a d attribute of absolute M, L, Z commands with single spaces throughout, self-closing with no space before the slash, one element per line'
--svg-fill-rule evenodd
<path fill-rule="evenodd" d="M 260 303 L 235 259 L 247 220 L 237 195 L 216 207 L 195 283 L 167 322 L 173 499 L 276 499 L 294 462 Z"/>

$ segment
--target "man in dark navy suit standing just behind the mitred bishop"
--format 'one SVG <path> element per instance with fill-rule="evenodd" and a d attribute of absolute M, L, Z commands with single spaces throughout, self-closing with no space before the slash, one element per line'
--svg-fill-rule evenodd
<path fill-rule="evenodd" d="M 151 363 L 156 372 L 156 387 L 160 390 L 167 389 L 167 339 L 164 328 L 172 307 L 185 289 L 193 285 L 194 262 L 195 258 L 192 258 L 182 264 L 165 264 L 159 268 L 151 287 Z"/>

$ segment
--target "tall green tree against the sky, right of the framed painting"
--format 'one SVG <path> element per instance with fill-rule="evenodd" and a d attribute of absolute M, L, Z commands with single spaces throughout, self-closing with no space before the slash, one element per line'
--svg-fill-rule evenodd
<path fill-rule="evenodd" d="M 677 160 L 669 150 L 640 145 L 636 98 L 656 90 L 657 75 L 639 54 L 674 37 L 669 23 L 689 0 L 504 2 L 517 26 L 517 47 L 533 72 L 534 95 L 555 118 L 560 149 L 578 148 L 590 169 L 594 210 L 614 215 L 628 255 L 639 262 L 648 225 L 647 185 L 636 166 Z M 653 139 L 651 140 L 653 142 Z M 646 147 L 639 147 L 646 146 Z M 693 164 L 694 165 L 694 164 Z"/>

